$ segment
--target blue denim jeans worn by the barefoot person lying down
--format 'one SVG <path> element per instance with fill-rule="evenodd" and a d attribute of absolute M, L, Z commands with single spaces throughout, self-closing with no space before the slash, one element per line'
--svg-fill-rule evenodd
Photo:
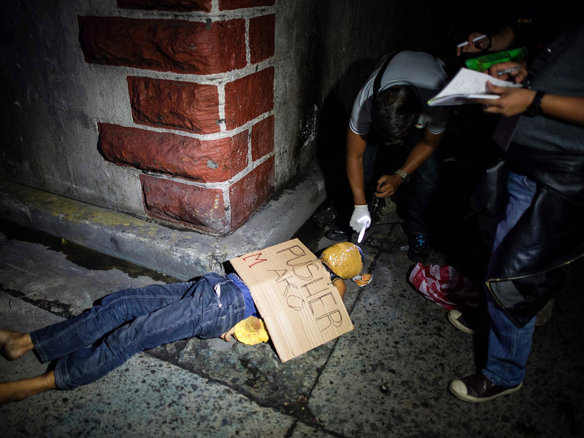
<path fill-rule="evenodd" d="M 58 359 L 57 387 L 72 390 L 98 380 L 142 350 L 193 336 L 221 336 L 244 315 L 241 290 L 227 276 L 209 273 L 199 281 L 115 292 L 91 310 L 30 337 L 42 363 Z"/>

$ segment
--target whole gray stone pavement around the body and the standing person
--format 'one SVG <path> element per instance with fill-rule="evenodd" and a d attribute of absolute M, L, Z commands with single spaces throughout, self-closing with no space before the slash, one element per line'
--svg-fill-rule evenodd
<path fill-rule="evenodd" d="M 6 225 L 6 223 L 5 223 Z M 322 230 L 319 230 L 321 232 Z M 406 283 L 399 251 L 362 246 L 374 280 L 348 282 L 355 329 L 286 363 L 269 344 L 182 340 L 134 356 L 96 383 L 0 407 L 7 436 L 569 437 L 584 422 L 578 271 L 550 324 L 536 329 L 524 387 L 485 404 L 447 392 L 474 372 L 484 339 Z M 322 235 L 322 234 L 321 234 Z M 125 287 L 176 281 L 58 238 L 20 229 L 0 236 L 0 326 L 30 331 L 78 314 Z M 313 251 L 332 244 L 299 236 Z M 8 304 L 10 302 L 10 304 Z M 32 353 L 0 360 L 0 380 L 42 373 Z"/>

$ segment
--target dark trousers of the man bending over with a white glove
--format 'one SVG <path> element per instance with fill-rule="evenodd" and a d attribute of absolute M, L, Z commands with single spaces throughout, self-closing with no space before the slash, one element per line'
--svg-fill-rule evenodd
<path fill-rule="evenodd" d="M 372 136 L 374 137 L 374 136 Z M 413 145 L 420 140 L 419 130 L 416 128 L 409 137 L 404 139 L 403 145 L 385 145 L 383 141 L 371 141 L 363 154 L 363 179 L 367 187 L 373 178 L 373 164 L 377 155 L 377 148 L 401 148 L 399 155 L 407 157 Z M 396 169 L 397 170 L 397 169 Z M 385 173 L 387 175 L 387 173 Z M 408 200 L 408 217 L 406 218 L 406 232 L 408 234 L 424 234 L 429 232 L 429 206 L 432 202 L 439 179 L 439 159 L 437 151 L 423 162 L 410 176 L 411 192 Z"/>

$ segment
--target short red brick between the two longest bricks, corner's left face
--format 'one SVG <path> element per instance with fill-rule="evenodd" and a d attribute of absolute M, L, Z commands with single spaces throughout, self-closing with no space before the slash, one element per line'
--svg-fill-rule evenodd
<path fill-rule="evenodd" d="M 128 76 L 128 92 L 136 123 L 197 134 L 220 131 L 215 85 Z"/>

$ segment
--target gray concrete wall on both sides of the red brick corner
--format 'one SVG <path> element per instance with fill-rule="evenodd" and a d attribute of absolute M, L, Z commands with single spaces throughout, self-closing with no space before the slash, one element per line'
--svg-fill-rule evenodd
<path fill-rule="evenodd" d="M 314 158 L 319 120 L 326 121 L 320 135 L 344 148 L 346 117 L 361 82 L 383 53 L 418 46 L 422 9 L 404 1 L 276 0 L 270 63 L 276 67 L 277 187 Z M 0 18 L 1 178 L 144 217 L 140 171 L 106 162 L 97 149 L 98 121 L 136 126 L 126 77 L 144 71 L 87 64 L 77 15 L 199 21 L 222 13 L 132 11 L 114 0 L 29 0 L 5 8 Z"/>

